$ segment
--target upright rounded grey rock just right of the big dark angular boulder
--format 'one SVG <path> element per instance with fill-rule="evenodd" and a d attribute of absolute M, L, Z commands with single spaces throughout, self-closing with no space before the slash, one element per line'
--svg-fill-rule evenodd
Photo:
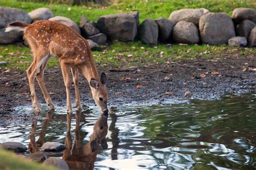
<path fill-rule="evenodd" d="M 139 36 L 145 44 L 157 44 L 158 39 L 158 25 L 150 18 L 145 19 L 139 25 Z"/>

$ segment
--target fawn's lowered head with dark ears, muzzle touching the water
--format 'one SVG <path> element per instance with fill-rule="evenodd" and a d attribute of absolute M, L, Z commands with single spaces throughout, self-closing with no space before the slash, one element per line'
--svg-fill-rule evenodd
<path fill-rule="evenodd" d="M 100 76 L 100 82 L 98 82 L 96 79 L 91 79 L 90 86 L 95 103 L 104 112 L 104 114 L 108 114 L 109 110 L 107 109 L 106 74 L 102 73 Z"/>

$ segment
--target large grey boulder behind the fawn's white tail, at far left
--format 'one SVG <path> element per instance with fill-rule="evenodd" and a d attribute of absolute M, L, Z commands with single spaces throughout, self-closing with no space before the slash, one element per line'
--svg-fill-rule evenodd
<path fill-rule="evenodd" d="M 9 7 L 0 7 L 0 44 L 11 44 L 22 39 L 22 32 L 10 31 L 5 32 L 6 26 L 15 21 L 21 21 L 30 24 L 31 18 L 23 10 Z"/>

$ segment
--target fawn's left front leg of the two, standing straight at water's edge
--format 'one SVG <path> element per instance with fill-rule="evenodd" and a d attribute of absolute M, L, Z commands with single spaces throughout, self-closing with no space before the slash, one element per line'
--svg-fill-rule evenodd
<path fill-rule="evenodd" d="M 70 96 L 70 88 L 71 88 L 71 76 L 70 76 L 70 66 L 67 65 L 63 60 L 60 60 L 60 67 L 62 68 L 62 75 L 64 79 L 64 83 L 66 86 L 66 107 L 68 112 L 72 113 L 71 106 L 71 96 Z"/>

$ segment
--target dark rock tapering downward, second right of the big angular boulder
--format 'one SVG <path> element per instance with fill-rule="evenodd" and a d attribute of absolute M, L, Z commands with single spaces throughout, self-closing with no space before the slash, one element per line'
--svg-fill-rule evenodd
<path fill-rule="evenodd" d="M 172 22 L 169 19 L 165 19 L 163 17 L 160 17 L 156 20 L 156 23 L 158 25 L 158 40 L 159 41 L 167 41 L 171 37 L 173 26 L 176 24 Z"/>

